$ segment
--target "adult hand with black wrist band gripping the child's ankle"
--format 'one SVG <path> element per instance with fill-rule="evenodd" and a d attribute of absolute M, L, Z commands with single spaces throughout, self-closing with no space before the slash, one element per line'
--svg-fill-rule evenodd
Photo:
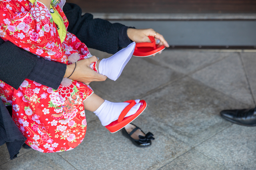
<path fill-rule="evenodd" d="M 70 76 L 75 68 L 73 74 L 69 77 L 72 80 L 83 82 L 86 85 L 93 81 L 105 81 L 107 76 L 99 74 L 90 68 L 90 64 L 96 61 L 98 61 L 97 57 L 92 56 L 88 59 L 83 59 L 76 62 L 76 68 L 74 63 L 67 65 L 64 77 Z"/>

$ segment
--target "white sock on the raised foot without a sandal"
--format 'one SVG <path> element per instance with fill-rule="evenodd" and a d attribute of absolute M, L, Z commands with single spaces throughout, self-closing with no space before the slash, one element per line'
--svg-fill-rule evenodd
<path fill-rule="evenodd" d="M 99 64 L 99 73 L 107 76 L 109 79 L 116 81 L 121 75 L 124 67 L 131 59 L 136 43 L 130 43 L 126 48 L 118 51 L 107 59 L 102 59 Z"/>

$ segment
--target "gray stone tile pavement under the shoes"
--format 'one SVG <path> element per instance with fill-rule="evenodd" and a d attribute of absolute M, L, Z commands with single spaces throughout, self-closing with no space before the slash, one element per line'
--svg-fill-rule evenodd
<path fill-rule="evenodd" d="M 10 160 L 3 145 L 0 169 L 255 170 L 256 127 L 220 117 L 223 109 L 255 106 L 255 56 L 166 49 L 155 57 L 132 57 L 116 82 L 91 86 L 106 100 L 146 100 L 147 109 L 134 123 L 154 133 L 151 147 L 135 147 L 121 132 L 110 134 L 87 111 L 86 138 L 75 149 L 48 154 L 22 148 L 18 158 Z"/>

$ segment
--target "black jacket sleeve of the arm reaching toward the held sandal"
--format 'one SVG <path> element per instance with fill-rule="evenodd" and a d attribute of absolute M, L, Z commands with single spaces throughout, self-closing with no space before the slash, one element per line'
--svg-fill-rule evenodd
<path fill-rule="evenodd" d="M 69 21 L 68 31 L 75 34 L 87 47 L 111 54 L 120 49 L 118 35 L 124 25 L 99 18 L 93 19 L 89 13 L 82 16 L 82 10 L 76 4 L 66 3 L 63 11 Z"/>

